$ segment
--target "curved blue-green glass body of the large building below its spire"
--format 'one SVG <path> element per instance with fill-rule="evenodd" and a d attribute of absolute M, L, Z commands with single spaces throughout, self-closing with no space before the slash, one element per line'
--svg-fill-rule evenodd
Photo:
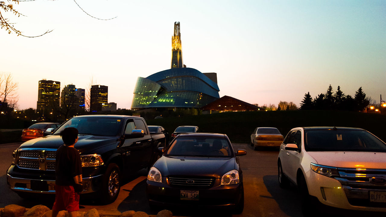
<path fill-rule="evenodd" d="M 139 77 L 132 109 L 200 108 L 219 98 L 217 83 L 193 68 L 172 68 Z"/>

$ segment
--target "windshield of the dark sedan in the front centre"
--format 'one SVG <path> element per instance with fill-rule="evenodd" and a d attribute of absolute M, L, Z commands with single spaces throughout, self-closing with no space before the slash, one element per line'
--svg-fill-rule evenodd
<path fill-rule="evenodd" d="M 231 146 L 219 137 L 177 137 L 166 151 L 166 156 L 230 157 Z"/>

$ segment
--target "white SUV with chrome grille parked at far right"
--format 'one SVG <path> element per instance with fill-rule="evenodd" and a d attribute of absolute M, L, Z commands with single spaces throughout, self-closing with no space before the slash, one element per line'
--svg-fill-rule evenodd
<path fill-rule="evenodd" d="M 386 144 L 348 127 L 297 127 L 280 146 L 278 180 L 298 186 L 303 213 L 322 203 L 350 210 L 386 212 Z"/>

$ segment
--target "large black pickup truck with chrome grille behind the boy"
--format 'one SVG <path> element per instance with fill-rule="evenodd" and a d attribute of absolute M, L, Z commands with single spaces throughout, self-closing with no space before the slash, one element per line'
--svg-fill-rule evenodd
<path fill-rule="evenodd" d="M 82 161 L 84 195 L 113 202 L 124 176 L 149 168 L 165 145 L 163 133 L 150 134 L 145 120 L 125 115 L 82 115 L 64 122 L 51 135 L 24 142 L 13 153 L 7 183 L 20 197 L 55 193 L 55 156 L 63 144 L 59 135 L 75 127 L 75 148 Z M 52 129 L 53 130 L 53 129 Z"/>

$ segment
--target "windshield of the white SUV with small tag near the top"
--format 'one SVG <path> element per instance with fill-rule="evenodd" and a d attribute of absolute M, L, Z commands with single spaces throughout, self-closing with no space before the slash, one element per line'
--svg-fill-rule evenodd
<path fill-rule="evenodd" d="M 310 130 L 305 131 L 306 151 L 381 151 L 386 144 L 367 131 Z"/>

